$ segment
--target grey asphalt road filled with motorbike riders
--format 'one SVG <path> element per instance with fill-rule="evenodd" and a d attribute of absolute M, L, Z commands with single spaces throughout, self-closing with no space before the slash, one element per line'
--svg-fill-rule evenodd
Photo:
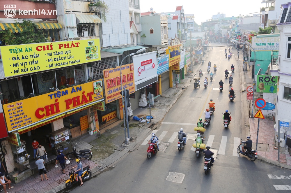
<path fill-rule="evenodd" d="M 217 46 L 219 44 L 212 44 Z M 222 44 L 220 44 L 222 45 Z M 120 160 L 114 168 L 108 169 L 98 176 L 84 183 L 82 187 L 75 187 L 74 192 L 286 192 L 291 187 L 290 170 L 282 169 L 259 160 L 250 161 L 249 158 L 235 153 L 240 138 L 244 139 L 243 103 L 240 88 L 242 84 L 241 73 L 237 68 L 235 58 L 226 60 L 225 48 L 213 48 L 203 65 L 205 72 L 210 60 L 212 66 L 217 64 L 217 73 L 209 87 L 204 89 L 203 79 L 201 87 L 194 90 L 193 81 L 158 126 L 156 135 L 162 142 L 161 151 L 147 159 L 147 145 L 141 145 L 133 152 Z M 236 50 L 233 50 L 237 54 Z M 228 99 L 228 90 L 231 88 L 224 78 L 225 69 L 235 64 L 236 71 L 231 73 L 234 79 L 233 87 L 236 98 L 233 102 Z M 210 79 L 210 76 L 207 75 Z M 224 80 L 224 90 L 219 92 L 218 82 Z M 218 150 L 217 159 L 212 170 L 207 175 L 203 170 L 203 157 L 197 158 L 191 145 L 194 140 L 187 139 L 184 149 L 178 151 L 176 133 L 182 127 L 188 134 L 196 134 L 193 130 L 197 120 L 204 119 L 208 102 L 213 99 L 215 112 L 211 124 L 205 131 L 205 143 Z M 229 129 L 224 129 L 222 113 L 228 109 L 232 115 Z M 247 116 L 247 115 L 246 115 Z M 191 135 L 188 135 L 191 136 Z M 192 135 L 193 136 L 193 135 Z M 145 138 L 146 139 L 146 138 Z M 166 180 L 170 172 L 179 173 Z M 277 178 L 277 179 L 276 179 Z M 289 178 L 289 179 L 288 179 Z"/>

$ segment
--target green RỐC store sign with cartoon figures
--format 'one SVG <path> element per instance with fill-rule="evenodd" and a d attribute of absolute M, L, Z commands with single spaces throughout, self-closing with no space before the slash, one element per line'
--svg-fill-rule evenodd
<path fill-rule="evenodd" d="M 276 93 L 278 76 L 258 75 L 257 92 Z"/>

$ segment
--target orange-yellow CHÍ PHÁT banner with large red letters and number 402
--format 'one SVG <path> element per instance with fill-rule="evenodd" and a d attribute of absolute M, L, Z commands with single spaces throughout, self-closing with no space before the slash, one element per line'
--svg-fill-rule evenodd
<path fill-rule="evenodd" d="M 8 131 L 103 98 L 102 79 L 3 105 Z"/>

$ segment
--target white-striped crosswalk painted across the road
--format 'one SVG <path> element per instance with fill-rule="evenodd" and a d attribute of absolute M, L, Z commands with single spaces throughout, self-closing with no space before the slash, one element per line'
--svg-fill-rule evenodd
<path fill-rule="evenodd" d="M 168 131 L 158 131 L 155 130 L 153 131 L 155 133 L 155 135 L 159 138 L 159 142 L 168 142 L 168 143 L 173 143 L 173 142 L 177 142 L 178 141 L 178 132 L 168 132 Z M 193 137 L 193 135 L 195 137 Z M 145 140 L 141 143 L 141 145 L 147 145 L 148 140 L 150 140 L 152 134 L 149 134 L 147 136 L 147 138 L 145 138 Z M 187 136 L 187 144 L 189 143 L 196 143 L 195 142 L 195 138 L 196 138 L 196 134 L 188 134 Z M 206 146 L 210 146 L 212 147 L 213 141 L 214 141 L 215 135 L 209 135 L 209 137 L 207 137 L 206 139 Z M 165 139 L 165 140 L 164 140 Z M 168 140 L 168 141 L 167 141 Z M 204 142 L 204 143 L 205 143 Z M 234 138 L 234 142 L 233 142 L 233 156 L 239 157 L 239 154 L 237 153 L 237 147 L 239 146 L 240 143 L 240 138 L 235 137 Z M 230 145 L 230 143 L 228 143 L 228 137 L 227 136 L 222 136 L 221 137 L 221 142 L 220 142 L 220 146 L 219 146 L 219 155 L 226 155 L 226 146 Z M 186 146 L 185 146 L 186 147 Z M 190 151 L 195 151 L 196 148 L 191 146 Z"/>

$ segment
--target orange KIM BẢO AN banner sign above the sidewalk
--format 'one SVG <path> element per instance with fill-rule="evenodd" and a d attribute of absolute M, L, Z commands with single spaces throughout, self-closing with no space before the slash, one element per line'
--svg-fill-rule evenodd
<path fill-rule="evenodd" d="M 133 64 L 121 66 L 122 86 L 129 90 L 129 94 L 135 92 Z M 105 103 L 110 103 L 121 98 L 120 67 L 103 70 Z"/>

